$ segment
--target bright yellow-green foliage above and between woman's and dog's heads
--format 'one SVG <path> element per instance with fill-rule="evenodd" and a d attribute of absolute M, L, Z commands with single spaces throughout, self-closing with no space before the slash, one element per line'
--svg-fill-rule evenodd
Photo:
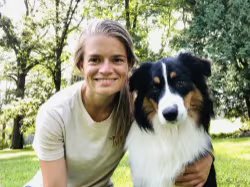
<path fill-rule="evenodd" d="M 177 18 L 174 16 L 179 10 L 181 0 L 100 0 L 85 1 L 84 17 L 86 19 L 113 19 L 123 23 L 129 30 L 135 45 L 135 53 L 140 62 L 156 61 L 170 54 L 168 42 L 175 32 Z M 149 34 L 162 30 L 161 48 L 155 52 L 149 46 Z"/>

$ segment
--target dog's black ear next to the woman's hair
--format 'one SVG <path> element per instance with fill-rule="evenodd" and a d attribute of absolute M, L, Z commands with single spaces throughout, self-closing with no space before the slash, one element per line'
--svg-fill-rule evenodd
<path fill-rule="evenodd" d="M 131 92 L 146 89 L 146 85 L 149 83 L 151 77 L 151 66 L 152 64 L 149 62 L 143 63 L 132 73 L 129 79 L 129 90 Z"/>

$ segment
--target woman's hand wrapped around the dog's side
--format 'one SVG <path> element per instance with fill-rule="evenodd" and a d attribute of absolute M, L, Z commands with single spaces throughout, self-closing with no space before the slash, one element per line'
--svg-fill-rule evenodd
<path fill-rule="evenodd" d="M 177 186 L 202 187 L 208 178 L 213 158 L 210 154 L 186 167 L 185 172 L 176 180 Z"/>

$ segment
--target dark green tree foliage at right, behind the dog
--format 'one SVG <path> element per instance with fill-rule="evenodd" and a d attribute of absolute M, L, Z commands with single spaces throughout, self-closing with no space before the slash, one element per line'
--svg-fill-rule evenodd
<path fill-rule="evenodd" d="M 249 0 L 195 2 L 190 26 L 172 45 L 213 59 L 211 86 L 218 111 L 250 117 Z"/>

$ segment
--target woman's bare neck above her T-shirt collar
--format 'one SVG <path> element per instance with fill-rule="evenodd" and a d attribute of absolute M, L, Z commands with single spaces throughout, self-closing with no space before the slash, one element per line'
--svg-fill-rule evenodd
<path fill-rule="evenodd" d="M 103 97 L 100 95 L 92 95 L 86 91 L 86 87 L 82 86 L 81 89 L 82 102 L 91 116 L 91 118 L 100 122 L 107 119 L 114 107 L 114 97 Z"/>

